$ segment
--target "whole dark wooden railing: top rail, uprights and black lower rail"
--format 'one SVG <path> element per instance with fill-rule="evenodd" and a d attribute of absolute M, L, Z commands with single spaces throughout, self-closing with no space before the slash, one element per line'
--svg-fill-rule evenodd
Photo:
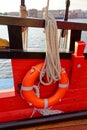
<path fill-rule="evenodd" d="M 74 51 L 75 41 L 81 40 L 82 31 L 87 31 L 87 23 L 77 23 L 77 22 L 68 22 L 68 21 L 56 21 L 58 29 L 71 30 L 70 35 L 70 47 L 69 52 L 67 52 L 64 57 L 67 55 L 69 58 L 71 57 L 70 53 Z M 37 19 L 37 18 L 21 18 L 21 17 L 11 17 L 11 16 L 0 16 L 0 25 L 7 25 L 8 27 L 8 35 L 9 35 L 9 43 L 10 43 L 10 51 L 9 50 L 1 50 L 2 55 L 0 57 L 21 57 L 21 53 L 24 53 L 24 57 L 31 58 L 28 56 L 27 51 L 23 51 L 22 46 L 22 27 L 37 27 L 44 28 L 45 20 Z M 17 53 L 16 53 L 17 52 Z M 6 53 L 6 55 L 5 55 Z M 14 54 L 15 53 L 15 54 Z M 43 53 L 43 52 L 42 52 Z M 39 56 L 39 53 L 33 52 L 34 54 Z M 39 58 L 44 57 L 39 56 Z M 61 56 L 63 56 L 61 54 Z"/>

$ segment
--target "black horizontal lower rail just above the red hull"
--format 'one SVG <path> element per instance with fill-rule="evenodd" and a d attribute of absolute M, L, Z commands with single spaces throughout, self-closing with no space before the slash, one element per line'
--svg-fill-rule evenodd
<path fill-rule="evenodd" d="M 45 52 L 25 52 L 21 50 L 0 50 L 0 58 L 5 59 L 45 59 Z M 71 59 L 71 53 L 60 53 L 61 59 Z"/>

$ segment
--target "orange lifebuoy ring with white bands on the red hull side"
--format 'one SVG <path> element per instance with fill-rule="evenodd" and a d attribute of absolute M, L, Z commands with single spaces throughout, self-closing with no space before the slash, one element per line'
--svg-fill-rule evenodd
<path fill-rule="evenodd" d="M 25 75 L 22 81 L 21 91 L 24 99 L 27 102 L 32 103 L 33 106 L 37 108 L 48 108 L 50 106 L 57 104 L 58 101 L 60 101 L 63 98 L 63 96 L 67 91 L 69 81 L 65 70 L 62 70 L 60 73 L 61 79 L 59 80 L 59 85 L 56 93 L 49 98 L 45 98 L 45 99 L 38 98 L 35 95 L 33 85 L 35 80 L 39 77 L 42 66 L 43 63 L 38 64 L 35 66 L 35 68 L 37 69 L 30 69 L 27 72 L 27 74 Z"/>

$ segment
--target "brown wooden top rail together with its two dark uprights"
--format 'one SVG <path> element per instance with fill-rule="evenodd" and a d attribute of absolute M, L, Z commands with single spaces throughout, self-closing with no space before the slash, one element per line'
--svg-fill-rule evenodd
<path fill-rule="evenodd" d="M 87 23 L 56 21 L 58 29 L 70 29 L 70 51 L 74 51 L 75 41 L 80 41 L 81 32 L 87 31 Z M 0 16 L 0 24 L 8 26 L 10 49 L 23 50 L 22 26 L 44 28 L 45 20 L 37 18 L 21 18 L 11 16 Z"/>

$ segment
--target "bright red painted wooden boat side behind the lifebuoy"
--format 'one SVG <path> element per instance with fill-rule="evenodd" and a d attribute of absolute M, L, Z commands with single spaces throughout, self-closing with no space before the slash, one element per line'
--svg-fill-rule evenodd
<path fill-rule="evenodd" d="M 81 69 L 75 67 L 78 61 L 82 65 Z M 0 104 L 2 104 L 0 107 L 0 122 L 43 117 L 38 110 L 31 116 L 34 106 L 29 106 L 21 97 L 20 88 L 18 87 L 27 71 L 41 62 L 43 62 L 41 59 L 12 59 L 15 96 L 0 99 Z M 71 59 L 61 59 L 61 65 L 66 69 L 69 77 L 69 88 L 61 102 L 52 106 L 52 110 L 59 110 L 63 113 L 87 110 L 87 72 L 85 71 L 87 60 L 84 59 L 84 56 L 75 57 L 72 55 Z M 41 97 L 51 96 L 56 91 L 57 86 L 58 84 L 52 84 L 48 87 L 41 86 Z"/>

